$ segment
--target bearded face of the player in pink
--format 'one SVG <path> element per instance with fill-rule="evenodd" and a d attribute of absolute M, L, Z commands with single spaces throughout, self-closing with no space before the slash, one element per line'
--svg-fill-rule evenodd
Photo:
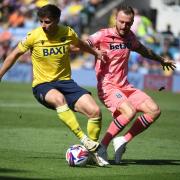
<path fill-rule="evenodd" d="M 126 36 L 133 24 L 133 15 L 127 15 L 123 11 L 119 11 L 116 17 L 116 29 L 120 36 Z"/>

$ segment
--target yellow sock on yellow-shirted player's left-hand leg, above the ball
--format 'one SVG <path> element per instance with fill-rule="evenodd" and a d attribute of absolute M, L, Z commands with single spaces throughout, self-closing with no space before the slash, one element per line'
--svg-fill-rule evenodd
<path fill-rule="evenodd" d="M 67 104 L 57 107 L 56 110 L 58 117 L 81 140 L 85 134 L 81 130 L 73 111 L 69 109 Z"/>

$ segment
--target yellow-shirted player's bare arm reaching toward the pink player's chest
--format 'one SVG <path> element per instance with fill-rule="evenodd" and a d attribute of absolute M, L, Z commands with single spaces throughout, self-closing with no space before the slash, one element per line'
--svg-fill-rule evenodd
<path fill-rule="evenodd" d="M 96 48 L 92 48 L 87 43 L 87 41 L 82 41 L 81 39 L 79 39 L 77 47 L 71 47 L 71 50 L 74 51 L 74 52 L 77 52 L 78 50 L 88 52 L 90 54 L 93 54 L 96 59 L 100 59 L 103 62 L 105 62 L 104 57 L 105 57 L 106 53 L 104 51 L 100 51 L 100 50 L 98 50 Z"/>

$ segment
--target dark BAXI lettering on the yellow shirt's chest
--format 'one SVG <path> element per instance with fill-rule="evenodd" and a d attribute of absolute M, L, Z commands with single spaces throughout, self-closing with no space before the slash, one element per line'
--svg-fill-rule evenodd
<path fill-rule="evenodd" d="M 49 56 L 49 55 L 57 55 L 57 54 L 65 54 L 65 46 L 60 47 L 54 47 L 54 48 L 43 48 L 43 55 Z"/>

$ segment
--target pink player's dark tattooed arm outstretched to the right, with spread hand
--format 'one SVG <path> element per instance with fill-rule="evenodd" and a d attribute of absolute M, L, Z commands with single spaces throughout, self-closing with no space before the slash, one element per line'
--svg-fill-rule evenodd
<path fill-rule="evenodd" d="M 145 47 L 141 43 L 139 47 L 135 49 L 134 51 L 141 54 L 145 58 L 160 62 L 164 70 L 165 68 L 167 68 L 167 70 L 169 70 L 169 68 L 171 68 L 172 70 L 176 68 L 175 62 L 173 60 L 159 56 L 152 49 Z"/>

